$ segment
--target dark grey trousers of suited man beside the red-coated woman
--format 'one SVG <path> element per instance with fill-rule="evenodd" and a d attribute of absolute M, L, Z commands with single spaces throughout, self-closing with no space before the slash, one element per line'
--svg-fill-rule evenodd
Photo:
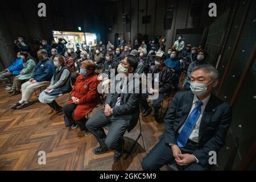
<path fill-rule="evenodd" d="M 122 119 L 113 116 L 107 117 L 102 109 L 86 122 L 86 127 L 96 137 L 100 146 L 121 152 L 121 139 L 129 123 L 130 121 L 125 120 L 125 115 Z M 109 126 L 108 135 L 104 132 L 104 126 Z"/>

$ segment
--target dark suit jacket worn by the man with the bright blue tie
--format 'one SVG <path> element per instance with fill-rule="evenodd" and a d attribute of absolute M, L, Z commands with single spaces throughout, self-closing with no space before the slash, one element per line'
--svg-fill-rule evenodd
<path fill-rule="evenodd" d="M 191 91 L 178 92 L 175 95 L 164 118 L 165 143 L 176 144 L 177 132 L 187 119 L 192 102 Z M 193 152 L 202 166 L 209 166 L 209 151 L 218 152 L 224 146 L 231 119 L 231 107 L 212 94 L 200 122 L 199 149 Z"/>

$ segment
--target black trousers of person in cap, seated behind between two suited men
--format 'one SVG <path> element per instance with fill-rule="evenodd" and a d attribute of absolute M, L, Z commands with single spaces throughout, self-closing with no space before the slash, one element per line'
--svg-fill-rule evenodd
<path fill-rule="evenodd" d="M 166 97 L 168 97 L 168 93 L 159 93 L 158 98 L 156 100 L 153 100 L 152 107 L 154 107 L 155 115 L 158 115 L 158 111 L 161 107 L 161 103 L 164 101 Z M 148 105 L 146 98 L 148 98 L 147 93 L 141 94 L 141 98 L 139 99 L 139 104 L 142 110 L 150 109 L 150 106 Z"/>

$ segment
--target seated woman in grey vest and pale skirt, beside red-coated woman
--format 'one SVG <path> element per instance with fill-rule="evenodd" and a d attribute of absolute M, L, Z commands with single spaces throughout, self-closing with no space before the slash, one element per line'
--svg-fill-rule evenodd
<path fill-rule="evenodd" d="M 53 63 L 57 68 L 53 73 L 51 84 L 46 90 L 40 93 L 38 100 L 51 107 L 48 114 L 52 114 L 53 111 L 55 111 L 55 114 L 59 114 L 63 109 L 57 104 L 55 98 L 71 92 L 71 73 L 69 72 L 69 69 L 65 67 L 65 58 L 63 56 L 55 56 Z"/>

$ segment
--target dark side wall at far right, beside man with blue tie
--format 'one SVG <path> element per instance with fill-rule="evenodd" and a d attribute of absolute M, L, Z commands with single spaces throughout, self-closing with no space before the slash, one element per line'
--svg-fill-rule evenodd
<path fill-rule="evenodd" d="M 217 89 L 220 89 L 219 97 L 227 103 L 230 103 L 234 97 L 235 91 L 240 86 L 238 83 L 243 78 L 242 75 L 246 72 L 246 67 L 251 61 L 250 57 L 255 53 L 256 1 L 238 1 L 237 7 L 236 10 L 232 9 L 236 14 L 234 15 L 233 24 L 231 24 L 230 34 L 224 34 L 228 39 L 226 46 L 223 47 L 224 54 L 218 65 L 220 81 L 222 78 L 224 78 L 224 81 L 222 86 Z M 225 19 L 226 13 L 210 26 L 207 39 L 207 50 L 210 54 L 216 52 L 217 57 L 220 52 L 217 51 L 218 48 L 214 47 L 218 47 L 221 44 L 221 39 L 218 36 L 223 35 L 221 30 L 224 22 L 232 20 Z M 245 21 L 243 22 L 243 20 Z M 216 31 L 212 33 L 213 28 Z M 237 47 L 235 48 L 236 41 Z M 230 59 L 232 55 L 233 57 Z M 212 57 L 214 55 L 210 56 L 209 60 L 212 60 Z M 252 61 L 254 63 L 252 64 L 253 67 L 249 67 L 240 92 L 238 92 L 234 103 L 232 102 L 233 119 L 226 138 L 226 145 L 218 155 L 219 169 L 236 169 L 243 162 L 243 158 L 250 158 L 245 154 L 256 139 L 256 63 L 255 60 Z M 212 60 L 210 63 L 215 62 Z M 226 75 L 224 75 L 225 71 Z"/>

